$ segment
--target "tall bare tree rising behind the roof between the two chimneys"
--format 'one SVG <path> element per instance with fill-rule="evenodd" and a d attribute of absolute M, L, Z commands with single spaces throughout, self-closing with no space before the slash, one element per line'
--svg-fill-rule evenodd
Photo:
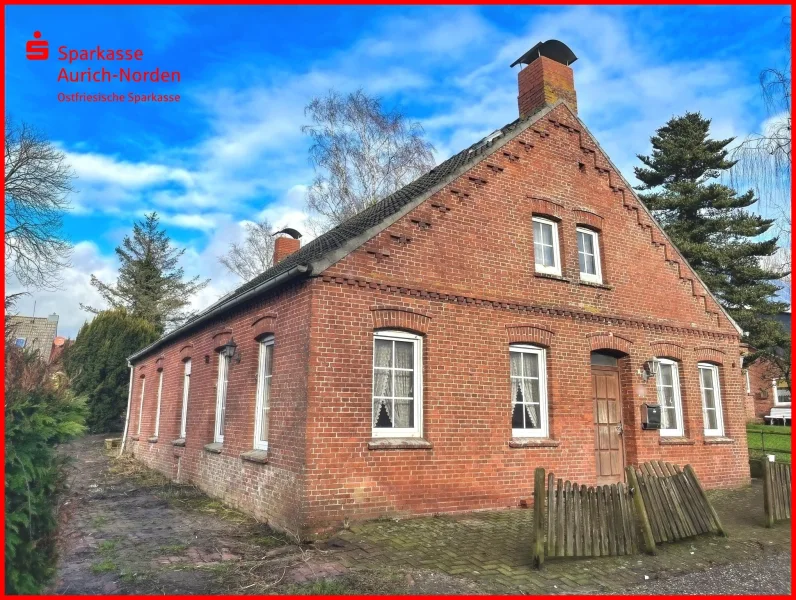
<path fill-rule="evenodd" d="M 358 90 L 329 92 L 304 110 L 315 180 L 307 194 L 315 233 L 410 183 L 434 167 L 434 148 L 423 128 L 399 111 L 386 111 L 378 98 Z"/>

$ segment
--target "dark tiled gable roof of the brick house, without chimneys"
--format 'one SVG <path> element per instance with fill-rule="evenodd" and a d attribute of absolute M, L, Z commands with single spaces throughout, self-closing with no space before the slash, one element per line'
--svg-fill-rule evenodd
<path fill-rule="evenodd" d="M 567 107 L 575 120 L 577 120 L 578 124 L 583 128 L 583 131 L 589 135 L 597 149 L 611 165 L 611 168 L 620 177 L 625 188 L 638 201 L 639 205 L 643 208 L 652 222 L 658 225 L 658 222 L 652 216 L 652 213 L 638 198 L 635 191 L 633 191 L 633 188 L 627 183 L 627 180 L 622 176 L 619 169 L 617 169 L 616 166 L 611 162 L 608 155 L 597 143 L 596 138 L 591 135 L 591 132 L 589 132 L 583 121 L 580 120 L 577 113 L 575 113 L 569 107 L 569 105 L 566 104 L 566 102 L 559 100 L 553 105 L 542 107 L 536 112 L 530 113 L 525 117 L 521 117 L 515 121 L 512 121 L 508 125 L 504 125 L 485 138 L 465 148 L 458 154 L 451 156 L 448 160 L 437 165 L 428 173 L 414 180 L 412 183 L 402 187 L 396 192 L 393 192 L 389 196 L 357 213 L 340 225 L 308 242 L 305 246 L 293 254 L 288 255 L 276 265 L 267 269 L 250 281 L 247 281 L 233 292 L 227 294 L 212 304 L 210 307 L 196 313 L 180 327 L 172 330 L 169 333 L 166 333 L 149 346 L 139 350 L 130 356 L 129 360 L 134 360 L 151 352 L 152 350 L 161 346 L 167 340 L 176 337 L 178 334 L 183 333 L 188 329 L 197 327 L 200 323 L 206 321 L 211 316 L 217 316 L 218 314 L 228 310 L 229 308 L 246 299 L 249 299 L 259 292 L 273 289 L 299 275 L 321 273 L 361 246 L 364 242 L 392 225 L 395 221 L 400 219 L 410 210 L 414 209 L 421 202 L 437 193 L 444 186 L 460 177 L 464 172 L 481 162 L 481 160 L 491 155 L 493 152 L 503 147 L 505 144 L 513 140 L 517 135 L 525 131 L 528 127 L 539 121 L 542 117 L 562 104 Z M 682 257 L 674 244 L 671 243 L 671 240 L 663 231 L 663 228 L 660 226 L 658 226 L 658 228 L 661 234 L 671 244 L 671 247 L 680 256 L 683 264 L 687 265 L 687 261 Z M 689 269 L 691 269 L 690 265 Z M 691 269 L 691 271 L 693 272 L 693 269 Z M 710 297 L 716 301 L 716 298 L 695 272 L 694 277 L 699 281 L 702 287 L 705 288 Z M 736 330 L 739 333 L 742 333 L 741 328 L 738 327 L 732 317 L 730 317 L 730 315 L 724 310 L 718 301 L 716 301 L 716 304 L 727 317 L 729 322 L 733 324 Z"/>

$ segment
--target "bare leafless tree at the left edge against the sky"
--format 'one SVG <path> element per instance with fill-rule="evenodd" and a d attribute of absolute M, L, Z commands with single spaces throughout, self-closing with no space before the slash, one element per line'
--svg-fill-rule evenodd
<path fill-rule="evenodd" d="M 6 279 L 56 289 L 72 246 L 63 237 L 72 170 L 63 152 L 25 123 L 6 121 Z"/>

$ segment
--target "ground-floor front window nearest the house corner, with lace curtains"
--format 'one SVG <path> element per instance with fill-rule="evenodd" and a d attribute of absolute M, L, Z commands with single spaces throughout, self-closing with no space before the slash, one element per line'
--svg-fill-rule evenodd
<path fill-rule="evenodd" d="M 420 437 L 423 370 L 420 336 L 379 332 L 373 339 L 373 436 Z"/>

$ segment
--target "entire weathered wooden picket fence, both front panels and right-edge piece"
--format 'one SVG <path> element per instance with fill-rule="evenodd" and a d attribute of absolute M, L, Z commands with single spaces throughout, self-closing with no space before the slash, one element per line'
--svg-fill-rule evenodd
<path fill-rule="evenodd" d="M 550 473 L 545 489 L 545 470 L 536 469 L 536 567 L 541 567 L 546 557 L 621 556 L 635 554 L 642 546 L 655 554 L 657 543 L 710 532 L 726 535 L 691 465 L 681 470 L 671 463 L 652 461 L 628 466 L 625 472 L 627 484 L 603 486 L 562 482 Z M 775 477 L 779 483 L 774 483 Z M 772 470 L 771 482 L 767 497 L 779 498 L 780 507 L 785 493 L 773 490 L 776 486 L 777 490 L 783 489 L 787 483 L 790 518 L 790 472 L 774 475 Z"/>

